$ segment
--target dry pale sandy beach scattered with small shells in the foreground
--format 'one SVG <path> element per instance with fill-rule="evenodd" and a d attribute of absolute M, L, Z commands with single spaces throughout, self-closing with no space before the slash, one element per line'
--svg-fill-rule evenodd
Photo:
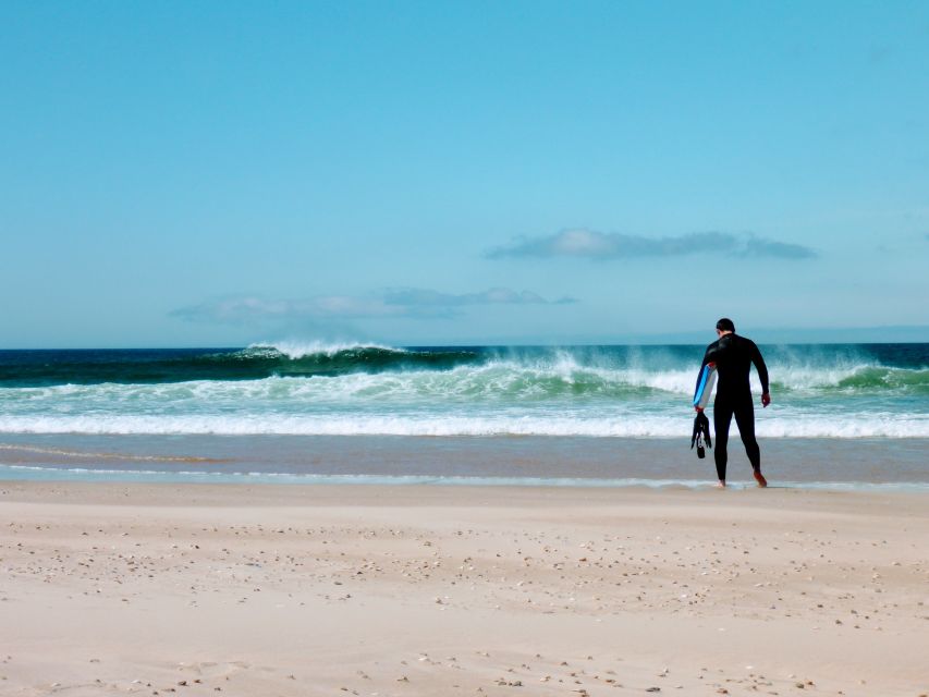
<path fill-rule="evenodd" d="M 0 492 L 2 695 L 929 692 L 925 496 Z"/>

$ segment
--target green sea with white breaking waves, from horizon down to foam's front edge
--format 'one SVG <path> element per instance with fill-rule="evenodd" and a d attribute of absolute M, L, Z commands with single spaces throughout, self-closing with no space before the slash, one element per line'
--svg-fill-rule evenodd
<path fill-rule="evenodd" d="M 762 436 L 929 437 L 929 346 L 765 346 Z M 0 432 L 676 437 L 698 346 L 0 352 Z M 760 391 L 753 371 L 756 394 Z"/>

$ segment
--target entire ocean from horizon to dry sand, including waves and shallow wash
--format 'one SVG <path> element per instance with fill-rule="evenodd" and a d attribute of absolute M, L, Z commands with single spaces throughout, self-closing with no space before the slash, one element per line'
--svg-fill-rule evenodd
<path fill-rule="evenodd" d="M 761 351 L 772 484 L 929 487 L 929 344 Z M 702 353 L 0 351 L 0 478 L 705 486 L 711 456 L 689 450 Z M 749 479 L 734 425 L 729 452 L 730 477 Z"/>

